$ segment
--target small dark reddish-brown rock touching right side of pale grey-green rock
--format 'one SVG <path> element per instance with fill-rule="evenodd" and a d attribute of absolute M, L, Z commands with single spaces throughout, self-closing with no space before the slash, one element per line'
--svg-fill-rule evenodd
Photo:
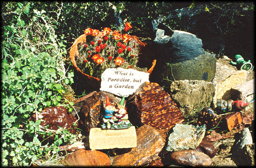
<path fill-rule="evenodd" d="M 216 155 L 217 150 L 213 146 L 212 142 L 208 137 L 204 137 L 202 142 L 194 149 L 197 152 L 207 154 L 210 158 Z"/>

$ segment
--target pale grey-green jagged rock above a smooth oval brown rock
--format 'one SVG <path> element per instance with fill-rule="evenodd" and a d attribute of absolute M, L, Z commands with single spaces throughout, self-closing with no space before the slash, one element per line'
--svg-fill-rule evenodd
<path fill-rule="evenodd" d="M 176 124 L 168 137 L 166 151 L 179 151 L 196 148 L 204 138 L 205 126 Z"/>

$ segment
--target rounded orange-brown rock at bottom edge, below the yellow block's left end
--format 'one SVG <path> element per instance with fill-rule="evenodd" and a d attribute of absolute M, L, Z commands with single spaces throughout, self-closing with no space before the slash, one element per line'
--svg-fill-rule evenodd
<path fill-rule="evenodd" d="M 62 164 L 70 166 L 109 166 L 111 160 L 107 154 L 101 151 L 79 149 L 68 154 Z"/>

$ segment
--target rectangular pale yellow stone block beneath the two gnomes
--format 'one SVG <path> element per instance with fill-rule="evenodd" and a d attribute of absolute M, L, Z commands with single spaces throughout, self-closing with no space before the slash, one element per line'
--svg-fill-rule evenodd
<path fill-rule="evenodd" d="M 90 149 L 134 148 L 137 136 L 134 126 L 128 129 L 90 129 Z"/>

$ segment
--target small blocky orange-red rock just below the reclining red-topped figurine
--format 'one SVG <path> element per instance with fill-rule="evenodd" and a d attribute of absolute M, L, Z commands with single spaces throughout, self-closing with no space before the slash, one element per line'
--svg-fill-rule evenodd
<path fill-rule="evenodd" d="M 232 129 L 236 128 L 242 123 L 241 113 L 240 112 L 233 112 L 228 115 L 225 115 L 221 119 L 221 127 L 224 130 L 231 131 Z"/>

